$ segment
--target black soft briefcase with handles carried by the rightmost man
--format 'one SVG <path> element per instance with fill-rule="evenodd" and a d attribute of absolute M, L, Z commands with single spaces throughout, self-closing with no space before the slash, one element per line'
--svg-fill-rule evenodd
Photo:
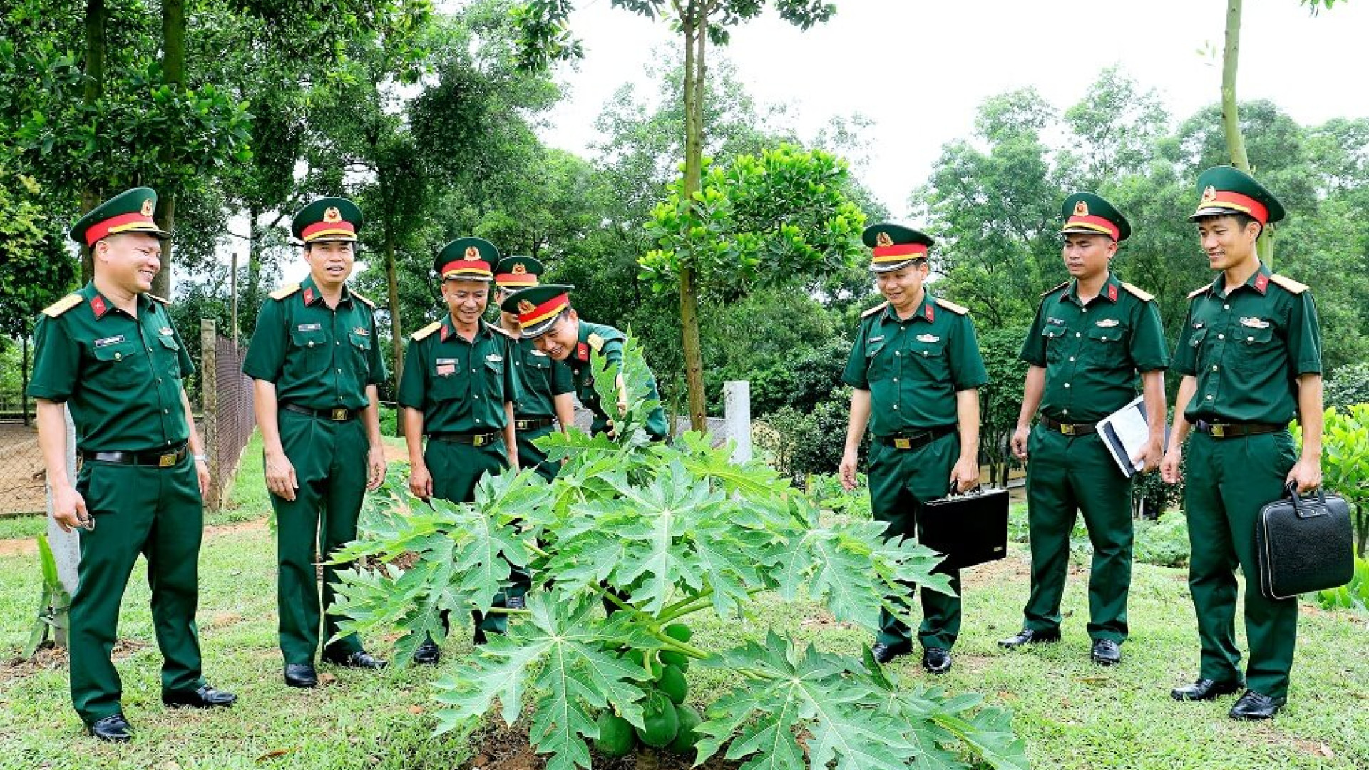
<path fill-rule="evenodd" d="M 1288 599 L 1350 582 L 1355 573 L 1350 506 L 1324 490 L 1298 497 L 1292 484 L 1287 493 L 1259 508 L 1255 521 L 1259 593 Z"/>

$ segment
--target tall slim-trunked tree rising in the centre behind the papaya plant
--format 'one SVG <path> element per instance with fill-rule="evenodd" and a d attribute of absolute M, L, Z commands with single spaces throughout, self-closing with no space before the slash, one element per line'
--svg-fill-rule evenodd
<path fill-rule="evenodd" d="M 760 15 L 764 0 L 613 0 L 613 5 L 646 18 L 668 15 L 684 42 L 684 174 L 680 200 L 694 206 L 704 175 L 704 96 L 708 44 L 726 45 L 730 27 Z M 571 0 L 531 0 L 519 10 L 523 26 L 523 60 L 545 66 L 552 59 L 579 56 L 579 45 L 565 27 Z M 836 7 L 821 0 L 778 0 L 780 18 L 809 29 L 826 22 Z M 690 425 L 702 430 L 708 417 L 704 399 L 704 356 L 698 325 L 698 275 L 684 258 L 678 270 L 684 377 L 689 386 Z"/>

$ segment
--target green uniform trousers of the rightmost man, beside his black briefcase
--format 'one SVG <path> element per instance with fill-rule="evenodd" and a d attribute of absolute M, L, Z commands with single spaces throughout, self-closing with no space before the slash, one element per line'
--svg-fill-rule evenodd
<path fill-rule="evenodd" d="M 1259 508 L 1283 497 L 1296 462 L 1287 430 L 1239 438 L 1194 433 L 1188 443 L 1184 507 L 1192 556 L 1188 589 L 1198 612 L 1205 680 L 1240 678 L 1236 649 L 1236 575 L 1246 575 L 1246 686 L 1270 697 L 1288 696 L 1288 671 L 1298 636 L 1298 600 L 1265 599 L 1255 564 Z"/>

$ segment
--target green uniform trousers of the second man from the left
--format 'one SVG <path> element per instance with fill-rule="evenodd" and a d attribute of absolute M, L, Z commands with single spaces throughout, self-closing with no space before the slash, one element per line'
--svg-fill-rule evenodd
<path fill-rule="evenodd" d="M 314 663 L 319 648 L 322 614 L 323 640 L 340 655 L 361 649 L 361 640 L 337 634 L 338 617 L 333 606 L 333 584 L 345 564 L 323 566 L 323 601 L 319 604 L 318 567 L 338 547 L 356 540 L 356 519 L 366 497 L 370 441 L 360 419 L 333 422 L 281 410 L 281 444 L 294 466 L 300 488 L 294 500 L 271 495 L 275 507 L 277 606 L 281 614 L 281 654 L 286 665 Z"/>

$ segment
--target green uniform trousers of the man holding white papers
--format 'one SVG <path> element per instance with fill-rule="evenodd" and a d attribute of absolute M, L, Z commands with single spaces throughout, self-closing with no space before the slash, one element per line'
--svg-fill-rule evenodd
<path fill-rule="evenodd" d="M 1064 436 L 1032 429 L 1027 454 L 1027 532 L 1031 537 L 1031 596 L 1025 626 L 1060 628 L 1060 597 L 1069 570 L 1069 533 L 1076 511 L 1084 515 L 1094 547 L 1088 573 L 1088 637 L 1127 640 L 1131 591 L 1131 480 L 1097 433 Z"/>

